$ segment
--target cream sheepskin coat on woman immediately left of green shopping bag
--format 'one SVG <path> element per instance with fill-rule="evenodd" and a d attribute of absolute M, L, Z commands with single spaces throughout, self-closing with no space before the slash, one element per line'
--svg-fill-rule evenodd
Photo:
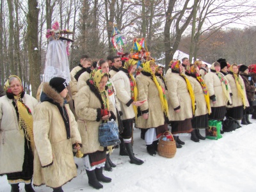
<path fill-rule="evenodd" d="M 200 82 L 192 76 L 188 77 L 189 82 L 195 94 L 196 110 L 195 116 L 205 115 L 208 113 L 207 104 L 204 98 L 204 92 Z"/>

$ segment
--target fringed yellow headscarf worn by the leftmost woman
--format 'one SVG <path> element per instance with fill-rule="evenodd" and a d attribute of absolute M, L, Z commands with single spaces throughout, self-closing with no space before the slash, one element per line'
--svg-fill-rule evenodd
<path fill-rule="evenodd" d="M 8 80 L 4 84 L 4 89 L 6 90 L 6 93 L 12 93 L 12 90 L 10 88 L 10 82 L 9 79 L 11 77 L 16 77 L 20 81 L 20 85 L 22 86 L 22 82 L 18 76 L 10 76 L 8 77 Z M 23 88 L 22 88 L 23 91 Z M 20 93 L 21 94 L 21 93 Z M 33 116 L 26 104 L 22 101 L 19 95 L 14 95 L 13 94 L 13 101 L 16 103 L 18 113 L 19 113 L 19 129 L 20 129 L 20 134 L 26 136 L 26 139 L 30 141 L 31 148 L 34 151 L 35 150 L 35 142 L 34 142 L 34 135 L 33 135 Z M 24 130 L 24 131 L 23 131 Z"/>

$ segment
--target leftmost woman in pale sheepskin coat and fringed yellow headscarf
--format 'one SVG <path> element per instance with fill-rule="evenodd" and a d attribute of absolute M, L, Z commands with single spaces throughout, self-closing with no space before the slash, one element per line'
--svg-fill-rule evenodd
<path fill-rule="evenodd" d="M 19 191 L 25 183 L 26 191 L 33 176 L 33 114 L 38 104 L 24 93 L 22 82 L 10 76 L 4 84 L 6 95 L 0 98 L 0 175 L 6 174 L 12 191 Z"/>

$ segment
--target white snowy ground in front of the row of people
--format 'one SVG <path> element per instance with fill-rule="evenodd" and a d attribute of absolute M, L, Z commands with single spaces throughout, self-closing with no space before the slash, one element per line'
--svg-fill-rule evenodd
<path fill-rule="evenodd" d="M 256 191 L 256 120 L 233 132 L 225 132 L 220 140 L 195 143 L 189 136 L 180 137 L 186 142 L 177 149 L 175 157 L 149 156 L 140 130 L 134 130 L 134 153 L 143 161 L 141 166 L 130 164 L 129 157 L 111 156 L 116 168 L 104 172 L 112 182 L 103 184 L 103 191 Z M 65 192 L 96 191 L 88 186 L 82 159 L 76 158 L 77 177 L 63 186 Z M 10 191 L 6 177 L 0 177 L 0 191 Z M 24 184 L 20 184 L 24 191 Z M 50 192 L 45 186 L 35 191 Z"/>

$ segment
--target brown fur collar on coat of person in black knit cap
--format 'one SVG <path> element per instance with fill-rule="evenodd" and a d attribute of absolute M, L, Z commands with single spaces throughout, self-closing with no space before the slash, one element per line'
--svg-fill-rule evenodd
<path fill-rule="evenodd" d="M 70 97 L 67 94 L 67 97 L 65 99 L 62 98 L 60 96 L 60 93 L 56 92 L 56 90 L 54 90 L 54 88 L 52 88 L 49 85 L 49 83 L 44 83 L 40 100 L 41 100 L 41 102 L 48 101 L 48 102 L 51 102 L 52 104 L 58 104 L 61 107 L 63 107 L 66 100 L 67 101 L 70 100 Z"/>

